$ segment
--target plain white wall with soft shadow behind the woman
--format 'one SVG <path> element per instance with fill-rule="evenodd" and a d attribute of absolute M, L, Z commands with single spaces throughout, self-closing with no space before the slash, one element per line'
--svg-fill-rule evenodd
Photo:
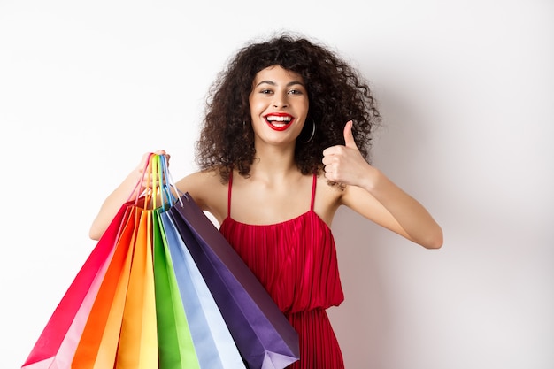
<path fill-rule="evenodd" d="M 350 369 L 554 367 L 550 0 L 0 1 L 0 367 L 23 364 L 142 153 L 196 169 L 216 73 L 290 29 L 372 82 L 373 164 L 443 227 L 424 250 L 341 209 Z"/>

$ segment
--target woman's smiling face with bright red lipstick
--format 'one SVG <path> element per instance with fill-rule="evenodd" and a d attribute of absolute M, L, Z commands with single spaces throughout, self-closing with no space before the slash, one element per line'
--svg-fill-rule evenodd
<path fill-rule="evenodd" d="M 308 115 L 308 93 L 300 74 L 273 65 L 256 74 L 250 115 L 257 139 L 295 142 Z"/>

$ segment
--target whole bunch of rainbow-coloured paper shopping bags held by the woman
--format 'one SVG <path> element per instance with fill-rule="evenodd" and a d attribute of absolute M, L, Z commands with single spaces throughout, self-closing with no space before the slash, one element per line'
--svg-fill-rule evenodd
<path fill-rule="evenodd" d="M 165 157 L 151 155 L 143 173 L 165 180 L 121 207 L 23 368 L 282 369 L 295 362 L 296 332 L 192 198 L 175 195 Z"/>

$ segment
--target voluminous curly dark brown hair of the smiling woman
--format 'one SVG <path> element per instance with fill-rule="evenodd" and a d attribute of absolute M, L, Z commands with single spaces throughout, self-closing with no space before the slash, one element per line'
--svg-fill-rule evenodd
<path fill-rule="evenodd" d="M 249 175 L 256 158 L 249 96 L 256 74 L 272 65 L 300 74 L 308 91 L 308 117 L 295 150 L 301 173 L 321 172 L 323 150 L 344 144 L 342 132 L 348 120 L 354 122 L 359 150 L 370 160 L 372 133 L 381 115 L 368 83 L 332 50 L 301 36 L 281 34 L 238 50 L 212 84 L 196 142 L 200 169 L 219 169 L 223 183 L 233 168 Z M 311 122 L 315 134 L 304 142 L 312 133 Z"/>

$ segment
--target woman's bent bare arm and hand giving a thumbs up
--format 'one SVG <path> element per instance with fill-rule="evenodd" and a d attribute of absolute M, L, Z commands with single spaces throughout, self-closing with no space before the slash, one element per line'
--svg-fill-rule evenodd
<path fill-rule="evenodd" d="M 440 248 L 441 227 L 417 200 L 365 161 L 351 128 L 351 122 L 344 127 L 344 146 L 323 152 L 327 180 L 346 185 L 341 204 L 427 249 Z"/>

